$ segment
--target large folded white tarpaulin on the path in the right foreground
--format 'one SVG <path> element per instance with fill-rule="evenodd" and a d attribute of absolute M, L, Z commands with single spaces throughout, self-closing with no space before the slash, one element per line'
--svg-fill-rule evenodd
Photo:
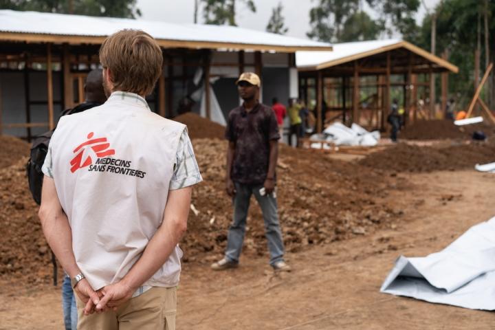
<path fill-rule="evenodd" d="M 470 309 L 495 310 L 495 217 L 474 225 L 444 250 L 400 256 L 380 289 Z"/>

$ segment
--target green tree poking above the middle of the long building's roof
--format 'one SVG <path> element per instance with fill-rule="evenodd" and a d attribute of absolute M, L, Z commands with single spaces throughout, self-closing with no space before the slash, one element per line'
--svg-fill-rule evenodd
<path fill-rule="evenodd" d="M 236 0 L 201 0 L 206 24 L 237 25 L 235 21 Z M 251 12 L 256 12 L 253 0 L 241 0 Z"/>

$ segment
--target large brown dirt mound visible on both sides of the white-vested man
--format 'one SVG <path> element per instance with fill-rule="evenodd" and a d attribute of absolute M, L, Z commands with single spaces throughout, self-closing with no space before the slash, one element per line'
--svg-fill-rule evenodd
<path fill-rule="evenodd" d="M 209 263 L 225 250 L 232 201 L 224 192 L 226 143 L 193 140 L 204 181 L 193 190 L 188 232 L 181 241 L 184 262 Z M 25 152 L 20 148 L 17 154 Z M 52 281 L 50 250 L 45 242 L 38 206 L 25 177 L 25 157 L 0 168 L 0 281 Z M 286 249 L 324 244 L 390 228 L 404 210 L 388 201 L 391 190 L 410 188 L 401 177 L 330 159 L 312 150 L 281 146 L 278 164 L 278 205 Z M 317 174 L 316 174 L 317 173 Z M 245 255 L 268 256 L 263 218 L 252 199 L 245 234 Z"/>

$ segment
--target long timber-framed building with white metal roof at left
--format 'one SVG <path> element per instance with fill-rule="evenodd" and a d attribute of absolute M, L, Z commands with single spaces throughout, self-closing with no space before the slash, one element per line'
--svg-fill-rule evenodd
<path fill-rule="evenodd" d="M 6 26 L 8 23 L 0 27 L 0 75 L 4 74 L 3 80 L 0 79 L 0 135 L 5 133 L 5 130 L 25 129 L 25 137 L 31 140 L 36 133 L 40 133 L 40 129 L 43 129 L 43 131 L 54 129 L 60 111 L 74 107 L 75 104 L 85 100 L 85 77 L 91 69 L 100 67 L 98 50 L 107 36 L 81 34 L 81 31 L 85 31 L 84 25 L 76 26 L 75 28 L 74 26 L 71 27 L 78 33 L 77 35 L 65 34 L 65 32 L 59 32 L 56 28 L 53 33 L 43 32 L 43 29 L 50 30 L 52 25 L 43 25 L 40 27 L 41 32 L 34 32 L 33 29 L 35 28 L 32 28 L 34 23 L 29 21 L 30 16 L 23 16 L 34 15 L 36 18 L 41 17 L 41 19 L 59 21 L 61 19 L 70 19 L 72 15 L 24 13 L 10 10 L 0 10 L 0 17 L 1 14 L 5 14 L 7 18 L 14 17 L 13 26 L 19 29 L 19 32 L 9 30 L 10 28 Z M 76 15 L 74 17 L 83 23 L 86 19 L 94 23 L 98 23 L 98 19 L 101 19 L 102 24 L 108 23 L 105 18 L 78 17 Z M 160 30 L 160 24 L 162 23 L 112 19 L 112 24 L 115 26 L 111 28 L 104 26 L 104 28 L 116 31 L 128 28 L 127 25 L 130 28 L 141 28 L 140 24 L 143 24 L 144 28 L 142 30 L 146 30 L 146 27 L 151 25 L 156 31 Z M 166 28 L 168 29 L 181 28 L 180 25 L 163 24 L 167 24 Z M 27 29 L 29 32 L 22 32 L 23 29 Z M 229 72 L 230 76 L 239 76 L 241 72 L 246 70 L 256 72 L 261 76 L 264 67 L 263 61 L 270 62 L 272 61 L 270 59 L 278 56 L 278 60 L 282 58 L 283 63 L 286 63 L 284 65 L 286 65 L 287 69 L 292 68 L 295 73 L 296 51 L 332 49 L 329 44 L 312 41 L 305 43 L 304 40 L 301 41 L 302 45 L 298 46 L 297 39 L 257 31 L 253 33 L 262 33 L 265 39 L 261 38 L 257 41 L 259 43 L 256 43 L 257 39 L 251 38 L 250 43 L 243 43 L 242 33 L 249 31 L 243 29 L 239 31 L 239 39 L 228 39 L 230 36 L 225 38 L 219 36 L 218 32 L 223 29 L 222 27 L 204 28 L 208 32 L 206 37 L 194 35 L 194 32 L 200 34 L 199 32 L 203 29 L 201 26 L 193 25 L 188 27 L 186 25 L 184 29 L 190 30 L 188 30 L 188 33 L 192 34 L 190 39 L 179 40 L 163 39 L 160 36 L 155 37 L 157 43 L 162 47 L 164 67 L 162 75 L 155 86 L 155 91 L 151 96 L 146 97 L 146 100 L 153 111 L 166 118 L 171 118 L 177 114 L 174 111 L 175 104 L 173 102 L 177 99 L 177 93 L 175 93 L 177 85 L 186 88 L 186 86 L 192 84 L 191 82 L 197 78 L 195 74 L 198 69 L 201 72 L 200 85 L 204 88 L 204 98 L 206 99 L 206 117 L 211 119 L 210 93 L 212 88 L 210 87 L 210 78 L 222 77 L 219 72 Z M 208 29 L 216 30 L 212 32 L 208 31 Z M 226 29 L 230 29 L 227 32 L 232 34 L 232 27 Z M 100 34 L 108 34 L 105 32 L 107 30 L 103 30 Z M 173 32 L 170 33 L 174 35 Z M 189 36 L 187 37 L 189 38 Z M 201 40 L 201 37 L 207 40 Z M 214 38 L 217 38 L 217 40 Z M 284 44 L 285 40 L 287 40 L 287 45 Z M 225 54 L 228 54 L 228 56 L 225 56 Z M 21 98 L 24 98 L 24 100 L 23 102 L 12 100 L 12 95 L 10 95 L 10 104 L 8 104 L 8 109 L 5 109 L 5 104 L 2 101 L 5 101 L 5 98 L 9 95 L 3 95 L 4 100 L 2 100 L 1 84 L 3 83 L 5 88 L 5 85 L 8 85 L 9 77 L 14 73 L 17 74 L 17 77 L 19 73 L 23 74 L 24 82 L 22 85 L 24 91 Z M 39 89 L 37 91 L 33 90 L 35 89 L 32 83 L 34 76 L 37 78 L 38 85 L 35 87 Z M 43 77 L 43 84 L 40 83 L 40 77 Z M 294 83 L 297 83 L 296 79 Z M 21 84 L 17 86 L 21 86 Z M 294 93 L 297 93 L 297 87 L 295 87 Z M 4 105 L 4 109 L 2 109 L 2 105 Z M 22 109 L 23 107 L 25 109 Z M 39 113 L 41 108 L 45 109 L 43 112 L 46 111 L 47 114 Z M 36 109 L 36 111 L 33 111 L 33 109 Z M 14 120 L 10 118 L 8 122 L 2 122 L 2 119 L 5 118 L 3 115 L 6 112 L 14 113 Z M 36 112 L 36 115 L 34 115 L 34 112 Z M 36 131 L 36 133 L 33 131 Z"/>

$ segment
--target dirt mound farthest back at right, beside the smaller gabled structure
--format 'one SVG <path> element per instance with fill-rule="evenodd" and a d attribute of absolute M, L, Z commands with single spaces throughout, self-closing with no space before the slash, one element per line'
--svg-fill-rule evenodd
<path fill-rule="evenodd" d="M 452 120 L 418 120 L 404 128 L 399 138 L 408 140 L 444 140 L 444 139 L 471 139 L 474 131 L 483 131 L 491 136 L 495 133 L 495 126 L 486 122 L 465 126 L 456 126 Z"/>

